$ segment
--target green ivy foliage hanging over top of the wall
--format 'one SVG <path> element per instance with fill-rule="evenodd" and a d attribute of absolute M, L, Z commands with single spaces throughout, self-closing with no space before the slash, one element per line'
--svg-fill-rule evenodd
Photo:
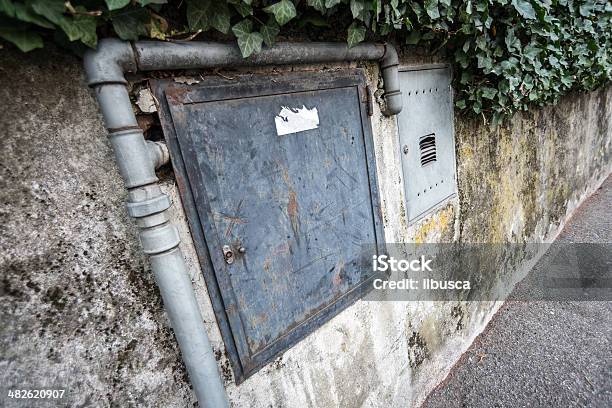
<path fill-rule="evenodd" d="M 455 67 L 456 106 L 500 122 L 612 77 L 608 0 L 0 0 L 0 38 L 24 52 L 95 47 L 98 36 L 233 37 L 246 58 L 279 35 L 350 47 L 391 39 L 443 52 Z"/>

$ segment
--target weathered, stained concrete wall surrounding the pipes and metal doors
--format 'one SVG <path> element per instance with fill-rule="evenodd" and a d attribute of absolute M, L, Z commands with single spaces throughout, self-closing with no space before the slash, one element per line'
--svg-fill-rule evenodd
<path fill-rule="evenodd" d="M 0 384 L 65 388 L 70 405 L 194 405 L 80 62 L 0 52 Z M 364 66 L 376 86 L 378 68 Z M 611 97 L 571 95 L 496 130 L 457 118 L 459 197 L 410 226 L 395 122 L 376 106 L 387 240 L 553 239 L 612 169 Z M 499 306 L 359 301 L 236 386 L 172 175 L 162 178 L 235 406 L 418 405 Z"/>

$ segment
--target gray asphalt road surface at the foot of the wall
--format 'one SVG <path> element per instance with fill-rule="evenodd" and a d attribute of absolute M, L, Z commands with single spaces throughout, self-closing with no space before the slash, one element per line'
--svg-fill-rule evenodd
<path fill-rule="evenodd" d="M 612 176 L 557 241 L 612 242 Z M 612 407 L 612 302 L 507 301 L 423 406 Z"/>

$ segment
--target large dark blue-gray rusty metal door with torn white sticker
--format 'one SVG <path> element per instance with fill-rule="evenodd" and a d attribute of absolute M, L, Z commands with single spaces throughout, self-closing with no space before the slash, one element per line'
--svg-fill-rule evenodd
<path fill-rule="evenodd" d="M 365 76 L 208 77 L 153 88 L 240 382 L 371 286 L 364 271 L 384 236 Z"/>

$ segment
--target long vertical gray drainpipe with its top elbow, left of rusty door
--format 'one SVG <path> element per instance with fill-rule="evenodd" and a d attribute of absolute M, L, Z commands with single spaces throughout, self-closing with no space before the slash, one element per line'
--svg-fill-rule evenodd
<path fill-rule="evenodd" d="M 225 388 L 206 334 L 175 226 L 170 198 L 155 175 L 150 146 L 136 122 L 124 72 L 136 72 L 130 43 L 105 40 L 85 56 L 88 84 L 100 104 L 119 171 L 128 189 L 128 212 L 136 219 L 144 252 L 179 343 L 200 406 L 228 407 Z"/>

